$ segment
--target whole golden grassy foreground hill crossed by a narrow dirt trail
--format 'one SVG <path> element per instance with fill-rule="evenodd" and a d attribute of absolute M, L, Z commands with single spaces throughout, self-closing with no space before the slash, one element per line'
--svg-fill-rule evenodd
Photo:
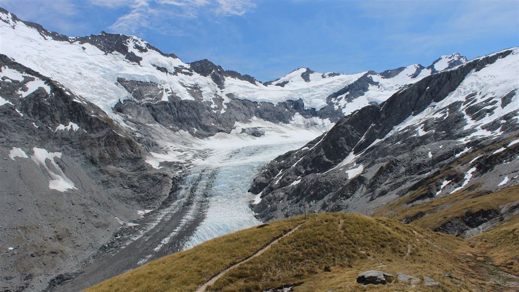
<path fill-rule="evenodd" d="M 87 291 L 194 291 L 215 274 L 245 259 L 303 221 L 301 216 L 217 238 L 187 251 L 152 261 Z M 477 249 L 450 235 L 360 214 L 321 213 L 263 254 L 231 269 L 207 291 L 263 291 L 293 285 L 295 291 L 406 290 L 409 283 L 386 286 L 356 283 L 364 270 L 430 276 L 437 291 L 500 289 L 487 275 Z M 450 278 L 446 273 L 452 274 Z M 483 283 L 483 284 L 482 284 Z M 422 283 L 416 287 L 427 291 Z"/>

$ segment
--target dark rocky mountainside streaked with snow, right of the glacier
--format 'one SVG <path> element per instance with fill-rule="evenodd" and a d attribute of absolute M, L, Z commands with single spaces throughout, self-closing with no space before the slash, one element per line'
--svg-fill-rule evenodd
<path fill-rule="evenodd" d="M 511 141 L 519 131 L 518 86 L 507 79 L 515 77 L 489 81 L 501 85 L 494 92 L 471 81 L 501 66 L 517 67 L 516 54 L 504 50 L 425 77 L 342 118 L 258 174 L 250 191 L 261 193 L 262 201 L 254 212 L 263 220 L 289 217 L 306 203 L 310 212 L 371 213 L 420 187 L 421 196 L 408 204 L 473 184 L 495 191 L 517 183 L 519 143 Z M 477 159 L 461 160 L 476 151 Z M 507 182 L 498 186 L 496 177 L 504 176 Z M 470 229 L 495 215 L 473 214 L 463 225 Z"/>

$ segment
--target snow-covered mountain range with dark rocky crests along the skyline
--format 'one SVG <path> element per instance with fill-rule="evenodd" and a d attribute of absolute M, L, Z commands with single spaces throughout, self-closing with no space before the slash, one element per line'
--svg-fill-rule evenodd
<path fill-rule="evenodd" d="M 124 124 L 125 119 L 113 111 L 118 103 L 195 101 L 211 118 L 189 125 L 176 124 L 174 130 L 201 136 L 220 131 L 228 133 L 234 122 L 252 116 L 287 123 L 294 115 L 301 114 L 305 118 L 319 117 L 335 122 L 365 105 L 385 101 L 402 87 L 431 73 L 466 61 L 456 53 L 440 57 L 427 68 L 414 64 L 379 74 L 372 71 L 353 75 L 317 73 L 299 68 L 263 84 L 249 75 L 225 71 L 208 60 L 185 63 L 135 36 L 102 32 L 88 37 L 67 37 L 24 22 L 6 10 L 0 11 L 0 20 L 3 22 L 0 27 L 3 54 L 60 82 L 116 121 Z M 261 103 L 278 105 L 301 101 L 303 106 L 295 105 L 293 110 L 286 110 L 288 113 L 278 111 L 276 118 L 248 110 L 244 119 L 239 117 L 241 113 L 233 111 L 233 106 L 227 109 L 231 103 L 248 106 L 247 101 L 260 106 Z M 226 121 L 220 117 L 224 114 Z"/>

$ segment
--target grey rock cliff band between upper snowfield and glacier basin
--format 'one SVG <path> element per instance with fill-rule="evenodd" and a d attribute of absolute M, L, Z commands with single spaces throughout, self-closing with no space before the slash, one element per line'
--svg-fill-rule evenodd
<path fill-rule="evenodd" d="M 132 91 L 132 94 L 141 96 L 143 88 Z M 155 96 L 154 99 L 158 99 L 154 95 L 158 92 L 157 87 L 146 88 L 146 96 Z M 230 133 L 237 121 L 248 122 L 253 117 L 274 123 L 290 123 L 296 114 L 312 117 L 315 113 L 313 109 L 304 109 L 302 100 L 271 104 L 240 99 L 231 100 L 224 113 L 215 113 L 209 103 L 182 100 L 174 96 L 169 96 L 168 102 L 141 103 L 127 100 L 116 104 L 114 110 L 130 121 L 157 122 L 172 131 L 184 130 L 198 137 L 208 137 L 220 132 Z"/>

